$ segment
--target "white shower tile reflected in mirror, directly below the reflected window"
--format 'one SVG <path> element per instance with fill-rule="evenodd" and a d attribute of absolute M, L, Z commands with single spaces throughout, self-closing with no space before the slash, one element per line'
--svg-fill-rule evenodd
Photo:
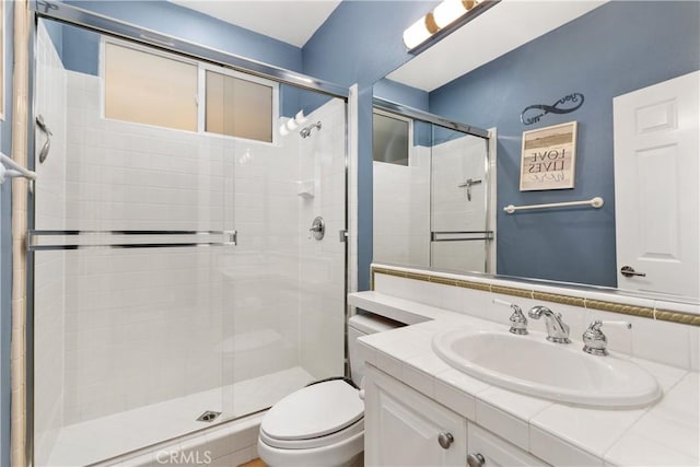
<path fill-rule="evenodd" d="M 430 266 L 430 148 L 413 147 L 409 166 L 373 163 L 374 258 Z"/>

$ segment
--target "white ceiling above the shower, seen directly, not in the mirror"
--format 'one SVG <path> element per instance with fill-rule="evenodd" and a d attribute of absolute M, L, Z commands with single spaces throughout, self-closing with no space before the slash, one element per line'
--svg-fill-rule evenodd
<path fill-rule="evenodd" d="M 303 47 L 340 0 L 171 0 L 219 20 Z"/>

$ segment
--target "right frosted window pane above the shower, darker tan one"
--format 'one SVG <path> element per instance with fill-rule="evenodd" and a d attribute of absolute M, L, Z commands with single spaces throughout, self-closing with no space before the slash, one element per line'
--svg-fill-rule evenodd
<path fill-rule="evenodd" d="M 207 71 L 205 131 L 272 142 L 272 86 Z"/>

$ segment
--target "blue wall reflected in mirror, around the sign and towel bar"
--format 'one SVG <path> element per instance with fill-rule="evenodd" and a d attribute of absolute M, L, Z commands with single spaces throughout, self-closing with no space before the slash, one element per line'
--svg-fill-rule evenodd
<path fill-rule="evenodd" d="M 612 98 L 700 68 L 700 3 L 612 1 L 430 94 L 430 110 L 498 127 L 498 207 L 602 196 L 600 210 L 498 212 L 498 272 L 616 287 Z M 573 114 L 521 112 L 579 92 Z M 579 121 L 575 188 L 518 189 L 525 130 Z"/>

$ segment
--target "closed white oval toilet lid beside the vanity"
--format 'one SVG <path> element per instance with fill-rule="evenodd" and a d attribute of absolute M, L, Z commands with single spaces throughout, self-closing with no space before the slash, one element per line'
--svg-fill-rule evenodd
<path fill-rule="evenodd" d="M 262 418 L 260 430 L 277 440 L 308 440 L 340 431 L 363 412 L 358 389 L 334 380 L 306 386 L 277 402 Z"/>

